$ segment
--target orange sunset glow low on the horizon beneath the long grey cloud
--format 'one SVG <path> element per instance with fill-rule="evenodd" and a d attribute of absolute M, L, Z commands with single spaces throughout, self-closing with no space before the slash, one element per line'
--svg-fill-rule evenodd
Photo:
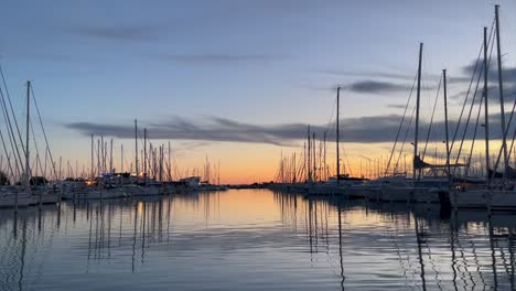
<path fill-rule="evenodd" d="M 336 174 L 335 163 L 335 150 L 334 143 L 330 142 L 326 144 L 326 165 L 329 169 L 330 176 Z M 508 144 L 510 146 L 510 144 Z M 368 179 L 375 179 L 378 174 L 383 175 L 385 168 L 388 163 L 393 143 L 350 143 L 343 141 L 341 151 L 341 173 L 351 174 L 353 176 L 364 176 Z M 459 146 L 455 144 L 452 157 L 456 157 Z M 481 157 L 484 157 L 485 143 L 483 140 L 477 140 L 474 144 L 473 160 L 472 163 L 476 165 L 482 164 L 484 161 Z M 501 148 L 501 141 L 494 140 L 490 143 L 492 162 L 496 160 L 496 155 Z M 465 155 L 469 154 L 471 142 L 465 142 L 462 153 L 461 163 L 464 163 Z M 438 155 L 436 157 L 436 150 Z M 398 172 L 411 173 L 411 163 L 413 148 L 409 143 L 405 144 L 404 154 L 399 157 L 399 144 L 396 155 L 390 163 L 390 171 L 393 165 L 398 159 Z M 423 151 L 423 144 L 421 144 L 420 152 Z M 430 163 L 444 163 L 444 144 L 442 142 L 429 143 L 427 149 L 427 155 L 424 161 Z M 295 153 L 295 163 L 298 166 L 298 173 L 303 164 L 303 147 L 278 147 L 273 144 L 261 144 L 261 143 L 237 143 L 237 142 L 219 142 L 205 146 L 201 149 L 190 150 L 180 157 L 173 157 L 173 164 L 176 170 L 172 171 L 173 180 L 181 177 L 200 175 L 203 177 L 204 166 L 206 164 L 206 157 L 211 164 L 211 183 L 218 183 L 218 162 L 221 163 L 219 171 L 219 183 L 221 184 L 251 184 L 255 182 L 269 182 L 276 181 L 279 169 L 281 157 L 284 159 L 291 159 Z M 316 155 L 319 161 L 319 144 L 316 149 Z M 396 158 L 397 157 L 397 158 Z M 127 158 L 129 163 L 126 161 L 125 171 L 129 171 L 130 159 Z M 514 160 L 514 155 L 510 160 Z M 64 159 L 66 161 L 66 159 Z M 115 162 L 115 168 L 118 165 L 118 161 Z M 452 162 L 454 160 L 452 159 Z M 79 161 L 80 164 L 80 161 Z M 87 157 L 83 158 L 83 164 L 88 164 Z M 291 166 L 290 166 L 291 169 Z M 379 169 L 379 170 L 378 170 Z M 80 170 L 80 169 L 79 169 Z M 166 171 L 166 170 L 165 170 Z M 287 170 L 286 170 L 287 171 Z M 85 172 L 89 173 L 89 166 L 85 166 Z M 140 173 L 140 176 L 142 174 Z M 299 182 L 304 181 L 305 176 L 298 176 Z"/>

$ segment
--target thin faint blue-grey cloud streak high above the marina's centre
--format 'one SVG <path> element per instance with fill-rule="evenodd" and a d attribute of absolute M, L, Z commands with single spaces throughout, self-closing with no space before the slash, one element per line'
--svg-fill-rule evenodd
<path fill-rule="evenodd" d="M 286 58 L 286 56 L 268 54 L 159 54 L 157 57 L 160 60 L 189 64 L 240 62 L 262 63 Z"/>

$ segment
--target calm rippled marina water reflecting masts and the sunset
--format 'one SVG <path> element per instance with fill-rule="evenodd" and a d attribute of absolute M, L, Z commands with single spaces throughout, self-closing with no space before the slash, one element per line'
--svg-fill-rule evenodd
<path fill-rule="evenodd" d="M 510 290 L 516 216 L 267 190 L 0 211 L 0 290 Z"/>

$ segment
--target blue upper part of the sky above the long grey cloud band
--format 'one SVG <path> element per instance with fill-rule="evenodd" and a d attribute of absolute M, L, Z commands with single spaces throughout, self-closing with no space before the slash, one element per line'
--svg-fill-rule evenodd
<path fill-rule="evenodd" d="M 325 125 L 337 85 L 410 87 L 419 42 L 424 84 L 431 87 L 443 67 L 463 76 L 494 3 L 502 4 L 504 64 L 513 67 L 516 3 L 482 0 L 4 0 L 0 61 L 19 112 L 31 79 L 55 151 L 77 155 L 73 148 L 87 159 L 88 138 L 66 125 L 130 127 L 135 118 L 148 125 L 178 117 Z M 388 105 L 407 96 L 344 90 L 342 115 L 400 114 Z M 217 155 L 208 144 L 205 153 Z"/>

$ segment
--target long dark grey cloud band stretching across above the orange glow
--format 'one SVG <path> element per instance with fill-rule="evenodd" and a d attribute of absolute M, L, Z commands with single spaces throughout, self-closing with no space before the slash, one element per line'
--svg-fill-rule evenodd
<path fill-rule="evenodd" d="M 493 115 L 491 118 L 493 121 L 496 121 L 499 119 L 499 116 Z M 341 119 L 342 140 L 361 143 L 394 141 L 400 120 L 401 116 L 399 115 Z M 452 128 L 456 123 L 453 120 L 450 122 Z M 492 137 L 499 136 L 499 132 L 496 131 L 496 128 L 498 128 L 496 122 L 492 122 Z M 73 122 L 65 126 L 86 136 L 110 136 L 121 139 L 132 139 L 135 137 L 135 128 L 131 122 L 128 122 L 128 125 Z M 160 122 L 141 125 L 142 128 L 146 127 L 148 129 L 151 139 L 250 142 L 276 146 L 298 144 L 299 141 L 304 140 L 307 137 L 307 126 L 301 122 L 254 125 L 222 117 L 207 117 L 204 119 L 174 117 Z M 420 126 L 421 132 L 424 132 L 429 128 L 429 125 L 423 120 Z M 442 141 L 443 129 L 443 122 L 436 121 L 430 140 Z M 316 133 L 318 138 L 322 138 L 323 133 L 326 132 L 326 139 L 334 140 L 334 125 L 311 125 L 311 130 Z M 477 137 L 481 138 L 482 132 L 479 132 Z"/>

